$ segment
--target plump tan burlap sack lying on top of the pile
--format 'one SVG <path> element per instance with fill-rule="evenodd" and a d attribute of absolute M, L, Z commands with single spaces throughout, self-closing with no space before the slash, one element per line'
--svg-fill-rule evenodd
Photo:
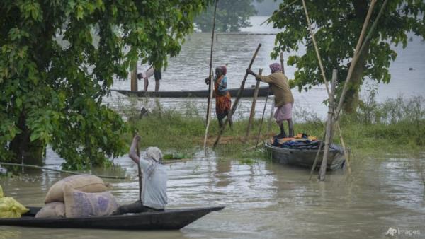
<path fill-rule="evenodd" d="M 47 192 L 45 197 L 45 204 L 50 202 L 64 202 L 64 192 L 62 187 L 65 182 L 69 185 L 69 187 L 82 192 L 105 192 L 108 190 L 100 177 L 88 174 L 72 175 L 55 182 L 55 184 L 50 187 L 49 192 Z"/>

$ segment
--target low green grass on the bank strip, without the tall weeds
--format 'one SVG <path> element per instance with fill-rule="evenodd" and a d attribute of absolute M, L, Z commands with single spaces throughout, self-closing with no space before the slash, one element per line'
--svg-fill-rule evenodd
<path fill-rule="evenodd" d="M 278 132 L 273 122 L 271 132 L 265 136 L 267 123 L 263 122 L 262 139 L 269 139 Z M 265 158 L 261 151 L 247 150 L 256 143 L 259 132 L 259 119 L 254 120 L 251 134 L 246 137 L 247 119 L 234 122 L 232 129 L 225 130 L 216 152 L 224 158 Z M 134 122 L 132 127 L 142 136 L 142 148 L 158 146 L 166 151 L 176 153 L 193 153 L 203 148 L 205 122 L 201 117 L 187 117 L 175 111 L 162 111 L 161 114 L 152 113 L 149 117 Z M 305 132 L 322 138 L 324 122 L 295 122 L 295 133 Z M 399 121 L 393 124 L 364 124 L 356 119 L 343 119 L 341 131 L 346 146 L 352 151 L 365 153 L 419 151 L 424 144 L 425 121 L 418 124 Z M 219 127 L 216 119 L 212 119 L 209 130 L 208 146 L 212 147 Z M 130 136 L 129 136 L 130 141 Z M 334 132 L 334 142 L 339 144 L 339 132 Z"/>

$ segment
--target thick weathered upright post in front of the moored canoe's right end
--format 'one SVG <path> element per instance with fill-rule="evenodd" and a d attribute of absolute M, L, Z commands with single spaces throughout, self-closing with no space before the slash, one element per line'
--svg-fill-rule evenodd
<path fill-rule="evenodd" d="M 322 164 L 320 165 L 320 171 L 319 171 L 319 179 L 322 181 L 324 180 L 324 176 L 326 175 L 327 158 L 329 153 L 330 142 L 332 140 L 332 132 L 333 132 L 332 129 L 334 127 L 332 120 L 334 119 L 334 93 L 335 93 L 337 74 L 338 74 L 338 71 L 334 69 L 334 71 L 332 72 L 331 95 L 329 97 L 328 118 L 326 122 L 326 134 L 324 137 L 323 159 L 322 159 Z"/>

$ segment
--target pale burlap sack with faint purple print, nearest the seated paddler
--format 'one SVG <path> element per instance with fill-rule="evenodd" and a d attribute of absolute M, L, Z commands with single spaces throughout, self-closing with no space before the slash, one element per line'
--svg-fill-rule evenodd
<path fill-rule="evenodd" d="M 118 209 L 111 192 L 81 192 L 64 185 L 65 214 L 67 218 L 108 216 Z"/>

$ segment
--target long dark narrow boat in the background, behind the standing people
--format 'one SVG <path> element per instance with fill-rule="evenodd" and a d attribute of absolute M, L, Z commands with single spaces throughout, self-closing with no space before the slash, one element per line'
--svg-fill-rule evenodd
<path fill-rule="evenodd" d="M 249 87 L 244 88 L 244 91 L 242 92 L 242 97 L 252 97 L 254 95 L 255 88 Z M 111 90 L 118 92 L 123 95 L 127 96 L 134 96 L 134 97 L 159 97 L 159 98 L 207 98 L 208 97 L 208 91 L 202 90 L 202 91 L 158 91 L 155 93 L 154 91 L 126 91 L 126 90 Z M 230 95 L 236 96 L 237 91 L 239 89 L 233 88 L 229 89 Z M 263 86 L 259 88 L 259 97 L 265 97 L 267 96 L 268 86 Z M 268 95 L 273 95 L 271 91 L 268 92 Z"/>

